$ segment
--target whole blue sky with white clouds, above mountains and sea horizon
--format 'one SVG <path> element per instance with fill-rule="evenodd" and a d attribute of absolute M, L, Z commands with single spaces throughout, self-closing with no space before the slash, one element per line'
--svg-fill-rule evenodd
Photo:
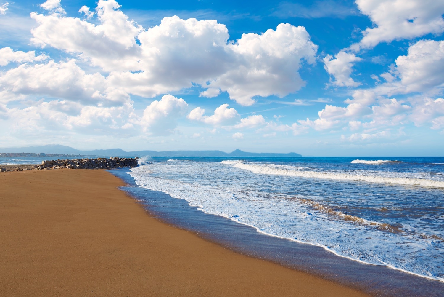
<path fill-rule="evenodd" d="M 0 0 L 0 147 L 443 156 L 444 1 Z"/>

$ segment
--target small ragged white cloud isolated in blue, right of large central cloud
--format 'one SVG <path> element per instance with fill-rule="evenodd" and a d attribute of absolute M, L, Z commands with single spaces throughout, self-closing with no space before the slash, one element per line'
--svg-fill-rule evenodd
<path fill-rule="evenodd" d="M 354 81 L 350 77 L 354 62 L 361 60 L 355 54 L 343 51 L 338 52 L 335 55 L 335 59 L 333 59 L 333 56 L 327 55 L 324 58 L 324 68 L 329 75 L 334 77 L 334 80 L 330 80 L 330 82 L 338 87 L 357 87 L 361 85 L 361 83 Z"/>

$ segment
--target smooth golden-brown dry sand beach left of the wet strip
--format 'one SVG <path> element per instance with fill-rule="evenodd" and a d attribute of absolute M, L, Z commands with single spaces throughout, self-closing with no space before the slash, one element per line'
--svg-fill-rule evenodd
<path fill-rule="evenodd" d="M 2 296 L 368 296 L 151 217 L 106 170 L 0 173 Z"/>

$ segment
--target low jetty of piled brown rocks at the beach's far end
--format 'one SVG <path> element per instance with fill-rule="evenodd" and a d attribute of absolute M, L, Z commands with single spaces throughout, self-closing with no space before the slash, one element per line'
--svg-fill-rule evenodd
<path fill-rule="evenodd" d="M 13 165 L 13 168 L 0 168 L 0 172 L 4 171 L 22 171 L 22 170 L 48 170 L 48 169 L 112 169 L 123 167 L 136 167 L 139 158 L 96 158 L 96 159 L 72 159 L 72 160 L 50 160 L 42 161 L 41 165 Z M 8 167 L 10 167 L 9 165 Z"/>

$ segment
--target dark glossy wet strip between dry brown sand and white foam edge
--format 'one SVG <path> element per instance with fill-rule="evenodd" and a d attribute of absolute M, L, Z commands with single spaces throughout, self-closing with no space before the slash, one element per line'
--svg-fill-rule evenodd
<path fill-rule="evenodd" d="M 227 249 L 352 286 L 375 296 L 440 296 L 444 289 L 444 283 L 438 280 L 386 265 L 371 265 L 340 257 L 321 246 L 270 236 L 258 232 L 253 226 L 202 212 L 187 200 L 138 186 L 127 174 L 128 170 L 111 172 L 127 183 L 122 189 L 142 203 L 153 216 Z"/>

